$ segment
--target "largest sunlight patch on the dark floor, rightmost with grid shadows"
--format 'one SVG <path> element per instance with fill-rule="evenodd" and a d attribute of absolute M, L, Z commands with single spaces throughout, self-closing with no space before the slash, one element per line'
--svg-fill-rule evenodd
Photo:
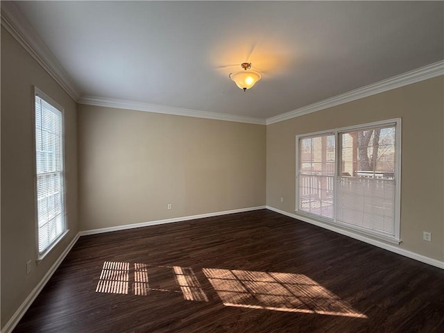
<path fill-rule="evenodd" d="M 203 268 L 223 305 L 367 318 L 306 275 Z"/>

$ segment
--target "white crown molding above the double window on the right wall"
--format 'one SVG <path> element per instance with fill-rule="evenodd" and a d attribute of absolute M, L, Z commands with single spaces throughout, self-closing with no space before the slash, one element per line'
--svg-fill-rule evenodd
<path fill-rule="evenodd" d="M 418 69 L 413 69 L 413 71 L 407 71 L 407 73 L 393 76 L 392 78 L 387 78 L 386 80 L 372 83 L 371 85 L 366 85 L 364 87 L 354 89 L 350 92 L 345 92 L 344 94 L 334 96 L 330 99 L 324 99 L 323 101 L 309 104 L 296 110 L 278 114 L 275 117 L 267 118 L 266 125 L 299 117 L 304 114 L 324 110 L 326 108 L 332 108 L 336 105 L 341 105 L 343 103 L 362 99 L 364 97 L 379 94 L 381 92 L 386 92 L 391 89 L 404 87 L 404 85 L 411 85 L 412 83 L 417 83 L 440 75 L 444 75 L 444 60 L 435 62 L 434 64 L 430 64 L 424 67 L 420 67 Z"/>

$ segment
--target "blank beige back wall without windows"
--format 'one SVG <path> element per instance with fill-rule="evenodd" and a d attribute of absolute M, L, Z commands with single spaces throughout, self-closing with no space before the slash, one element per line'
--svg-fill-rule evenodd
<path fill-rule="evenodd" d="M 78 111 L 80 230 L 265 205 L 265 126 Z"/>

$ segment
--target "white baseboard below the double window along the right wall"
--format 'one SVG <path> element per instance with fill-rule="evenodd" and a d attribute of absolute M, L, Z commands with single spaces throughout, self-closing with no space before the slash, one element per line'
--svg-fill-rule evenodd
<path fill-rule="evenodd" d="M 382 241 L 377 241 L 376 239 L 371 239 L 371 238 L 365 237 L 361 234 L 356 234 L 355 232 L 352 232 L 352 231 L 343 230 L 341 228 L 336 228 L 334 225 L 328 225 L 328 224 L 325 224 L 322 222 L 318 222 L 318 221 L 315 221 L 314 219 L 309 219 L 305 216 L 300 216 L 300 215 L 292 214 L 289 212 L 284 212 L 283 210 L 279 210 L 278 208 L 275 208 L 275 207 L 266 206 L 266 209 L 272 210 L 273 212 L 276 212 L 276 213 L 279 213 L 279 214 L 282 214 L 285 216 L 292 217 L 293 219 L 297 219 L 300 221 L 304 221 L 304 222 L 307 222 L 310 224 L 317 225 L 318 227 L 321 227 L 321 228 L 324 228 L 327 230 L 331 230 L 331 231 L 337 232 L 339 234 L 343 234 L 345 236 L 357 239 L 359 241 L 364 241 L 364 243 L 371 244 L 373 246 L 377 246 L 378 248 L 384 248 L 384 250 L 388 250 L 390 252 L 397 253 L 398 255 L 403 255 L 404 257 L 409 257 L 411 259 L 418 260 L 418 262 L 423 262 L 425 264 L 429 264 L 429 265 L 444 269 L 444 262 L 440 262 L 439 260 L 425 257 L 424 255 L 420 255 L 418 253 L 414 253 L 409 250 L 404 250 L 402 248 L 398 248 L 397 246 L 393 246 L 391 244 L 386 244 Z"/>

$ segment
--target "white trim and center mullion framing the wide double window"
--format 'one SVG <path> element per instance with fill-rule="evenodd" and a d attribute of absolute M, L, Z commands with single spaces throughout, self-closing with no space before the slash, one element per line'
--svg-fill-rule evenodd
<path fill-rule="evenodd" d="M 336 200 L 336 178 L 337 178 L 337 159 L 339 156 L 339 149 L 337 148 L 338 144 L 338 135 L 340 132 L 348 131 L 348 130 L 365 130 L 366 128 L 373 128 L 377 126 L 388 126 L 393 125 L 396 128 L 396 136 L 395 136 L 395 230 L 393 237 L 388 237 L 386 234 L 382 232 L 377 232 L 375 230 L 368 230 L 366 228 L 360 228 L 356 225 L 349 225 L 346 223 L 341 223 L 336 220 L 336 204 L 333 205 L 333 219 L 323 218 L 316 214 L 310 214 L 309 212 L 303 212 L 299 210 L 299 182 L 298 182 L 298 170 L 299 170 L 299 139 L 301 137 L 316 137 L 319 135 L 334 135 L 335 137 L 335 163 L 334 163 L 334 200 Z M 300 134 L 296 135 L 296 172 L 295 172 L 295 188 L 296 188 L 296 202 L 295 202 L 295 213 L 296 215 L 307 216 L 310 219 L 314 219 L 319 223 L 325 223 L 330 225 L 336 225 L 340 228 L 359 232 L 361 234 L 366 234 L 370 237 L 375 237 L 377 239 L 382 239 L 384 241 L 388 241 L 394 244 L 400 244 L 402 241 L 400 239 L 400 215 L 401 215 L 401 118 L 388 119 L 384 121 L 375 121 L 373 123 L 364 123 L 355 126 L 347 126 L 342 128 L 334 128 L 333 130 L 322 130 L 314 133 Z"/>

